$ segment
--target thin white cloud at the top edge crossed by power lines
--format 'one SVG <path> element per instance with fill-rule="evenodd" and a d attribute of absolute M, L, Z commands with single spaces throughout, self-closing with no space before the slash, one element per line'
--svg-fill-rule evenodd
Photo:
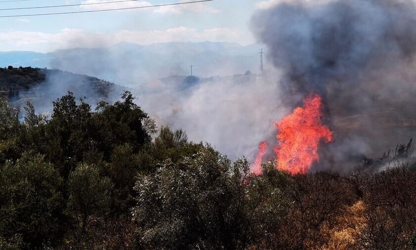
<path fill-rule="evenodd" d="M 190 0 L 182 0 L 181 2 L 188 2 Z M 85 0 L 81 3 L 100 3 L 108 2 L 108 0 Z M 152 6 L 157 4 L 152 4 L 145 0 L 138 1 L 127 1 L 127 2 L 118 2 L 118 3 L 108 3 L 108 4 L 91 4 L 91 5 L 82 5 L 81 8 L 88 10 L 100 10 L 100 9 L 109 9 L 109 8 L 130 8 L 130 7 L 143 7 L 143 6 Z M 134 9 L 132 9 L 134 10 Z M 181 5 L 169 5 L 169 6 L 160 6 L 152 8 L 155 13 L 173 13 L 180 14 L 183 11 L 191 12 L 200 12 L 200 13 L 219 13 L 219 9 L 208 6 L 202 2 L 181 4 Z"/>

